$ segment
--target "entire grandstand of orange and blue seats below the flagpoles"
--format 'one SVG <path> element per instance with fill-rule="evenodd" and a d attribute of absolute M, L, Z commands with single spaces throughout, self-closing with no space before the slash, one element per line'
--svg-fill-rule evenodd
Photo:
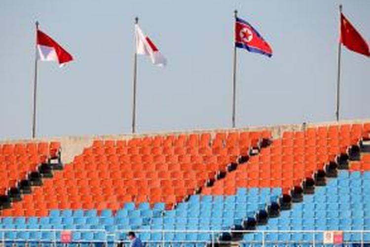
<path fill-rule="evenodd" d="M 368 120 L 2 142 L 0 241 L 370 245 L 369 142 Z"/>

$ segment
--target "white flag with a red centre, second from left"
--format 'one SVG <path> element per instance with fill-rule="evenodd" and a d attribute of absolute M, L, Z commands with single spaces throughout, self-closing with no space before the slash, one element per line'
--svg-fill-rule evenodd
<path fill-rule="evenodd" d="M 166 58 L 160 53 L 153 41 L 143 33 L 138 24 L 135 25 L 135 38 L 136 54 L 150 56 L 153 64 L 161 67 L 166 66 Z"/>

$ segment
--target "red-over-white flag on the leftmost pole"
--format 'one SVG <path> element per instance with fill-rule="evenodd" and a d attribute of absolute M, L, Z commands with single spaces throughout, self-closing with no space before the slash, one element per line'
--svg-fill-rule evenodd
<path fill-rule="evenodd" d="M 38 29 L 36 49 L 37 60 L 40 61 L 56 61 L 60 66 L 63 66 L 73 60 L 68 51 Z"/>

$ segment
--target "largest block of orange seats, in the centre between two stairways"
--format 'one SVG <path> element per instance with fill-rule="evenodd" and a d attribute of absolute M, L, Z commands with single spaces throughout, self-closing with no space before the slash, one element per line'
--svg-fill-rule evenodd
<path fill-rule="evenodd" d="M 248 154 L 269 131 L 96 140 L 72 164 L 45 180 L 4 216 L 47 216 L 50 209 L 118 210 L 126 202 L 163 202 L 166 209 L 194 194 Z"/>

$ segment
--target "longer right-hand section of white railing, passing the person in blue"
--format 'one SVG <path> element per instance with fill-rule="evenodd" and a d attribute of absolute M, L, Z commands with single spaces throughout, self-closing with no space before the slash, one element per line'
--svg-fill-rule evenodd
<path fill-rule="evenodd" d="M 129 241 L 127 239 L 117 239 L 117 236 L 125 236 L 127 232 L 130 230 L 121 230 L 116 232 L 115 234 L 115 242 L 121 242 L 127 246 Z M 193 246 L 201 246 L 208 245 L 210 247 L 216 246 L 216 244 L 235 244 L 243 247 L 265 247 L 265 246 L 299 246 L 299 245 L 308 245 L 315 247 L 325 245 L 328 240 L 324 241 L 324 234 L 326 233 L 340 233 L 342 236 L 341 241 L 337 242 L 340 245 L 349 245 L 358 244 L 359 246 L 363 247 L 365 244 L 368 246 L 370 245 L 370 230 L 351 230 L 351 231 L 340 231 L 340 230 L 333 230 L 333 231 L 319 231 L 319 230 L 265 230 L 265 231 L 246 231 L 246 230 L 136 230 L 135 233 L 140 238 L 143 234 L 161 234 L 161 238 L 159 240 L 142 240 L 146 246 L 161 246 L 161 247 L 168 247 L 170 244 L 174 246 L 190 246 L 187 244 L 192 244 Z M 178 233 L 185 233 L 185 234 L 202 234 L 208 235 L 209 238 L 207 240 L 176 240 L 176 238 L 171 238 L 166 236 L 166 234 L 178 234 Z M 233 239 L 237 239 L 236 235 L 240 235 L 240 239 L 234 241 L 220 241 L 218 237 L 222 233 L 229 233 Z M 246 240 L 244 236 L 249 235 L 250 237 L 253 236 L 253 240 Z M 350 237 L 347 240 L 348 236 Z M 288 239 L 284 239 L 289 237 Z M 333 236 L 334 237 L 334 236 Z M 366 238 L 365 238 L 366 237 Z M 338 241 L 338 240 L 336 240 Z M 335 244 L 334 239 L 333 243 L 327 243 L 328 245 L 333 246 Z"/>

